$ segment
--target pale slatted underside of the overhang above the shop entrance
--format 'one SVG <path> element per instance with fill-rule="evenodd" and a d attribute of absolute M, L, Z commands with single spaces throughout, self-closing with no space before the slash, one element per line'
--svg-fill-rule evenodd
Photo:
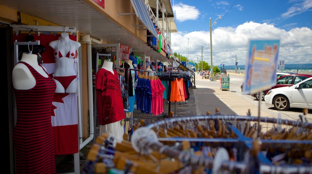
<path fill-rule="evenodd" d="M 165 0 L 165 2 L 166 8 L 169 8 L 170 0 Z M 156 6 L 156 0 L 149 0 L 149 3 Z M 106 43 L 130 46 L 138 55 L 145 54 L 153 59 L 168 60 L 83 0 L 1 0 L 0 4 L 61 26 L 76 27 L 79 33 L 102 39 Z M 172 12 L 171 7 L 170 11 Z"/>

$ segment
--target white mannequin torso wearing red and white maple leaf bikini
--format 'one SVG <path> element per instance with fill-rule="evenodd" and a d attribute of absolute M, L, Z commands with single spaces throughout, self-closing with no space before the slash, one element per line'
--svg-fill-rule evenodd
<path fill-rule="evenodd" d="M 49 46 L 54 49 L 55 56 L 56 67 L 53 74 L 56 82 L 55 93 L 77 93 L 76 51 L 81 44 L 71 40 L 68 33 L 63 32 L 60 39 L 51 41 Z"/>

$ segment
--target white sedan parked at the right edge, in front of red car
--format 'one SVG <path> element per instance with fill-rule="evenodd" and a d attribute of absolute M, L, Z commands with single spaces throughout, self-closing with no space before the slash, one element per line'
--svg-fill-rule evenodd
<path fill-rule="evenodd" d="M 267 106 L 273 105 L 280 111 L 289 108 L 312 109 L 312 77 L 293 86 L 271 89 L 264 96 L 264 101 Z"/>

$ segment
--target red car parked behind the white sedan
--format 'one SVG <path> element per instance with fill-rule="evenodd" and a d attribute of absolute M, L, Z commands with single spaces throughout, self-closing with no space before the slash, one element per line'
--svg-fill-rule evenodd
<path fill-rule="evenodd" d="M 279 88 L 283 86 L 292 86 L 295 85 L 302 80 L 305 80 L 309 77 L 312 77 L 312 74 L 291 74 L 291 75 L 284 75 L 277 79 L 276 86 L 273 86 L 271 89 Z M 270 89 L 267 89 L 265 91 L 258 92 L 256 94 L 251 94 L 251 96 L 256 97 L 257 100 L 264 101 L 264 96 L 268 93 Z"/>

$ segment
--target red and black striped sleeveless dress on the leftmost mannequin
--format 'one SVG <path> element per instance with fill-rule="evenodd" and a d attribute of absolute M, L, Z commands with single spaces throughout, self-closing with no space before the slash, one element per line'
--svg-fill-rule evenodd
<path fill-rule="evenodd" d="M 16 152 L 16 173 L 56 173 L 54 133 L 51 108 L 56 83 L 43 77 L 31 65 L 36 85 L 32 89 L 14 89 L 17 123 L 13 131 Z"/>

